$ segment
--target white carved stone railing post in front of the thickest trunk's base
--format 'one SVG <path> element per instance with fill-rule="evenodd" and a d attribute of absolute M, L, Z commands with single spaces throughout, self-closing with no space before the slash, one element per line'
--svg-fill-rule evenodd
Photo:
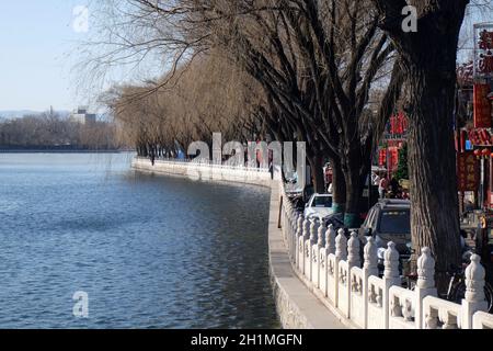
<path fill-rule="evenodd" d="M 435 259 L 429 248 L 421 250 L 421 257 L 417 259 L 417 283 L 415 287 L 416 306 L 415 321 L 417 329 L 424 329 L 425 318 L 423 314 L 423 299 L 426 296 L 438 296 L 435 286 Z"/>

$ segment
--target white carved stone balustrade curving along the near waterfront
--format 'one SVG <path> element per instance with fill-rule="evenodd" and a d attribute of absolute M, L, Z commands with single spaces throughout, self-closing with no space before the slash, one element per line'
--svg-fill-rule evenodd
<path fill-rule="evenodd" d="M 291 264 L 303 282 L 322 296 L 342 318 L 363 329 L 493 329 L 485 313 L 485 270 L 474 254 L 466 271 L 466 297 L 461 304 L 438 298 L 435 260 L 428 248 L 417 261 L 419 280 L 413 291 L 401 287 L 399 252 L 390 242 L 383 276 L 378 274 L 378 250 L 372 238 L 364 247 L 353 233 L 308 220 L 290 203 L 280 182 L 282 229 Z"/>

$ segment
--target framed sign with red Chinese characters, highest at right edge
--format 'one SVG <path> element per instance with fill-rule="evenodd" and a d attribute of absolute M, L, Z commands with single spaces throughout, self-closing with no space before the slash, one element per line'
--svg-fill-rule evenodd
<path fill-rule="evenodd" d="M 493 25 L 475 25 L 474 41 L 474 77 L 477 79 L 493 78 Z"/>

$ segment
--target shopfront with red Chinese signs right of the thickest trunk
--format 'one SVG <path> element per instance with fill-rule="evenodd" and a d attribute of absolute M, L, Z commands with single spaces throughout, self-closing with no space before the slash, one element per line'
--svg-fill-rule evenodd
<path fill-rule="evenodd" d="M 488 253 L 493 245 L 493 24 L 474 25 L 474 42 L 473 61 L 459 69 L 458 111 L 467 117 L 457 126 L 457 170 L 461 212 L 472 214 L 482 229 L 477 245 Z"/>

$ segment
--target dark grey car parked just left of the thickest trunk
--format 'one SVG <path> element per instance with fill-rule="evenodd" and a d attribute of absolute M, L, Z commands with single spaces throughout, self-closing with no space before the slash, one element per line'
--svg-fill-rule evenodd
<path fill-rule="evenodd" d="M 408 200 L 380 200 L 368 213 L 359 236 L 374 237 L 378 246 L 379 265 L 388 244 L 393 241 L 401 262 L 411 257 L 411 202 Z M 366 240 L 363 240 L 366 242 Z"/>

